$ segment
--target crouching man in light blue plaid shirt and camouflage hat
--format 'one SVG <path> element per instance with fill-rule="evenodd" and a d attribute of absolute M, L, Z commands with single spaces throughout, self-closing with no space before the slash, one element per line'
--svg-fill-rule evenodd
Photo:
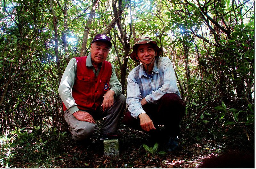
<path fill-rule="evenodd" d="M 185 113 L 172 62 L 159 57 L 162 49 L 149 37 L 135 40 L 132 60 L 141 64 L 127 78 L 128 111 L 123 123 L 131 128 L 148 132 L 154 141 L 162 139 L 158 125 L 164 125 L 167 136 L 165 151 L 179 146 L 180 120 Z M 159 140 L 158 140 L 159 141 Z"/>

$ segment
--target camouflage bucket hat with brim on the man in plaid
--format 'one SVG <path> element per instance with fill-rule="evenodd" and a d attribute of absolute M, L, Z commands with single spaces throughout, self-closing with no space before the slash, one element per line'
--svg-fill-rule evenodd
<path fill-rule="evenodd" d="M 154 47 L 154 50 L 156 50 L 156 58 L 158 58 L 161 55 L 163 50 L 157 46 L 156 41 L 152 40 L 147 36 L 141 36 L 140 38 L 137 38 L 135 40 L 135 44 L 132 46 L 132 53 L 130 54 L 130 57 L 132 58 L 132 60 L 136 62 L 140 62 L 140 60 L 136 59 L 138 46 L 148 44 L 148 43 L 151 43 Z"/>

